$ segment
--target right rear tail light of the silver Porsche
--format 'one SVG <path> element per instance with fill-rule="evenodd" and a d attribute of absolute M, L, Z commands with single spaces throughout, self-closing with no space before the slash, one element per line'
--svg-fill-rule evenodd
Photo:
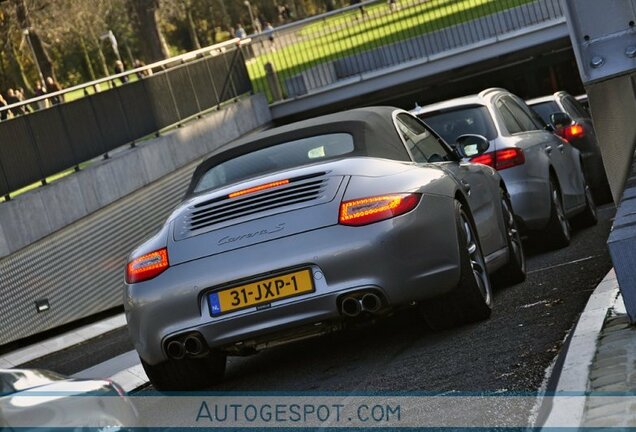
<path fill-rule="evenodd" d="M 351 201 L 340 204 L 341 225 L 362 226 L 390 219 L 407 213 L 420 202 L 420 194 L 391 194 Z"/>

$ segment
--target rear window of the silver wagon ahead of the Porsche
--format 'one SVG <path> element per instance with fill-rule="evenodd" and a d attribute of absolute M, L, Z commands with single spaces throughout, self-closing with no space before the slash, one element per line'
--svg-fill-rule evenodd
<path fill-rule="evenodd" d="M 497 136 L 488 109 L 481 105 L 435 111 L 418 117 L 451 145 L 457 141 L 457 137 L 465 134 L 483 135 L 489 140 Z"/>

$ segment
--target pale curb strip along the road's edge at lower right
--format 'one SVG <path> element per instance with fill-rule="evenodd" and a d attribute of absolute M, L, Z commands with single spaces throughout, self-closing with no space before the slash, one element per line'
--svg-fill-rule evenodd
<path fill-rule="evenodd" d="M 559 393 L 581 394 L 589 390 L 589 375 L 596 355 L 598 336 L 618 293 L 618 281 L 612 269 L 590 296 L 571 334 L 567 351 L 561 353 L 565 357 L 554 389 L 555 396 L 559 396 Z M 586 398 L 580 396 L 562 396 L 558 400 L 555 399 L 547 420 L 541 426 L 582 425 L 585 401 Z"/>

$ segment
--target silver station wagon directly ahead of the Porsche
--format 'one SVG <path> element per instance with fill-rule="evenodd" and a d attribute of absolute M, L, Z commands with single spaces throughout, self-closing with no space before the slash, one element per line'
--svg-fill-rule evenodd
<path fill-rule="evenodd" d="M 488 150 L 470 160 L 499 172 L 520 228 L 539 233 L 543 244 L 567 246 L 572 219 L 581 226 L 596 223 L 596 206 L 581 170 L 581 154 L 555 135 L 519 97 L 491 88 L 411 112 L 447 142 L 464 134 L 486 138 Z"/>

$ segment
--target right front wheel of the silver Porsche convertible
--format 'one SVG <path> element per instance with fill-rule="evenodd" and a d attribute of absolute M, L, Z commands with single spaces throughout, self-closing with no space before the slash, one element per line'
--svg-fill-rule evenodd
<path fill-rule="evenodd" d="M 504 190 L 501 190 L 501 212 L 508 242 L 508 264 L 493 275 L 493 282 L 500 286 L 511 286 L 526 280 L 526 256 L 523 252 L 523 243 L 512 211 L 510 197 Z"/>

